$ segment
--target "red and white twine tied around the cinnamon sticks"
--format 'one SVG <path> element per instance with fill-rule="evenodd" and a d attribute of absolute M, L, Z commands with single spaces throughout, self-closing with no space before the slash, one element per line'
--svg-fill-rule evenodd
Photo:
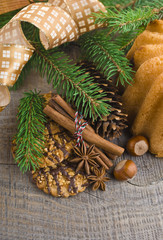
<path fill-rule="evenodd" d="M 76 140 L 76 146 L 80 147 L 80 143 L 84 142 L 83 141 L 83 137 L 82 137 L 82 133 L 85 129 L 85 127 L 88 125 L 88 122 L 84 121 L 82 123 L 83 116 L 82 114 L 79 114 L 79 112 L 75 113 L 75 128 L 76 131 L 74 133 L 74 137 L 77 138 Z"/>

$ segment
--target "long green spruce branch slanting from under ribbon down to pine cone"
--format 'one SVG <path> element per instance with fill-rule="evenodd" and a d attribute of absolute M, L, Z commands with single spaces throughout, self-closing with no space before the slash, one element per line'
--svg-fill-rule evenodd
<path fill-rule="evenodd" d="M 64 95 L 68 102 L 73 102 L 77 109 L 81 107 L 85 117 L 95 119 L 109 113 L 109 106 L 103 100 L 105 94 L 100 92 L 98 84 L 89 74 L 72 64 L 58 49 L 46 51 L 39 43 L 34 46 L 34 67 L 42 77 L 47 77 L 48 83 L 52 82 L 59 94 Z"/>

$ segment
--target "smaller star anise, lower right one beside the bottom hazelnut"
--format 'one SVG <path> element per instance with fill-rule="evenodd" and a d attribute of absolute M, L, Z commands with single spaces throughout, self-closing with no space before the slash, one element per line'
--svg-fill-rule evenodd
<path fill-rule="evenodd" d="M 98 168 L 94 168 L 94 174 L 90 175 L 87 178 L 91 180 L 91 183 L 93 183 L 92 190 L 96 191 L 98 188 L 105 191 L 105 183 L 109 181 L 110 179 L 108 177 L 105 177 L 106 171 L 103 167 L 101 171 Z"/>

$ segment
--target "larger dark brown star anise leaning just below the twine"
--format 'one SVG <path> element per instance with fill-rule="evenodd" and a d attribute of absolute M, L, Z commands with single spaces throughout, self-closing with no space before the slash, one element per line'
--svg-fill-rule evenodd
<path fill-rule="evenodd" d="M 96 163 L 96 157 L 99 156 L 99 153 L 94 151 L 95 145 L 91 145 L 87 148 L 87 146 L 82 143 L 81 147 L 74 147 L 74 152 L 78 157 L 71 159 L 70 162 L 78 163 L 76 172 L 85 168 L 86 173 L 90 174 L 90 166 L 98 166 Z"/>

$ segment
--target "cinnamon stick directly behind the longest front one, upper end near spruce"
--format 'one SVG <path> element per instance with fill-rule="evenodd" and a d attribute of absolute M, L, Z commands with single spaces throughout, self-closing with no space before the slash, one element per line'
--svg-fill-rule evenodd
<path fill-rule="evenodd" d="M 65 100 L 61 98 L 61 96 L 54 95 L 52 97 L 52 100 L 55 101 L 59 106 L 61 106 L 73 119 L 75 119 L 74 109 L 72 109 L 72 107 L 67 102 L 65 102 Z M 84 121 L 85 121 L 84 119 L 81 120 L 82 123 Z M 91 132 L 95 132 L 90 125 L 87 125 L 86 128 L 89 129 Z"/>

